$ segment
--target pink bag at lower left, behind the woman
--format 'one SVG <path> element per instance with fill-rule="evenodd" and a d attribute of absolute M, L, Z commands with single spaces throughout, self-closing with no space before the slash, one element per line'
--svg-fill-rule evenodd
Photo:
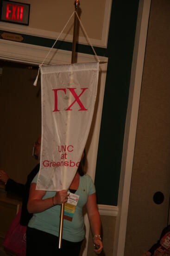
<path fill-rule="evenodd" d="M 21 209 L 14 217 L 3 242 L 4 248 L 17 256 L 26 255 L 26 227 L 21 226 Z"/>

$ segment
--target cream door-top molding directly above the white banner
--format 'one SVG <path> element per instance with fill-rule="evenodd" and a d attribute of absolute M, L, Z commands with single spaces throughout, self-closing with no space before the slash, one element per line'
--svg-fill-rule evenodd
<path fill-rule="evenodd" d="M 39 65 L 49 53 L 49 47 L 36 46 L 10 40 L 0 40 L 0 59 L 31 63 Z M 100 56 L 100 61 L 107 61 L 106 57 Z M 77 62 L 96 61 L 95 55 L 77 54 Z M 44 64 L 68 64 L 71 63 L 71 52 L 52 49 Z M 102 67 L 105 64 L 102 64 Z M 107 68 L 107 66 L 105 67 Z"/>

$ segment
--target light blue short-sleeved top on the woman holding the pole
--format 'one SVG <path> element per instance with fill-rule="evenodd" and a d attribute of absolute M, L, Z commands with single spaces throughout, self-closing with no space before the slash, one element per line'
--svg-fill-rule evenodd
<path fill-rule="evenodd" d="M 32 183 L 37 183 L 38 174 L 32 180 Z M 72 219 L 72 222 L 63 221 L 63 239 L 70 242 L 80 242 L 84 239 L 84 217 L 82 208 L 88 200 L 88 195 L 95 193 L 94 183 L 89 175 L 80 176 L 80 182 L 75 195 L 79 195 L 79 201 Z M 52 197 L 56 194 L 54 191 L 46 191 L 43 199 Z M 39 229 L 58 236 L 60 224 L 60 205 L 55 205 L 40 213 L 33 214 L 28 227 Z"/>

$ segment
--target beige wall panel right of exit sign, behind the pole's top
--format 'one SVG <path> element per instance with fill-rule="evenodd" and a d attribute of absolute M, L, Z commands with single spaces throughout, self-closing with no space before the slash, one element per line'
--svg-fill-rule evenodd
<path fill-rule="evenodd" d="M 27 0 L 22 2 L 28 3 Z M 74 1 L 71 0 L 41 0 L 41 3 L 29 0 L 29 3 L 31 4 L 30 27 L 53 32 L 61 32 L 75 9 Z M 105 4 L 106 0 L 81 0 L 81 21 L 91 38 L 101 39 Z M 87 13 L 88 19 L 86 19 Z M 73 23 L 74 16 L 64 31 L 65 34 L 73 34 Z M 80 35 L 83 35 L 82 31 Z"/>

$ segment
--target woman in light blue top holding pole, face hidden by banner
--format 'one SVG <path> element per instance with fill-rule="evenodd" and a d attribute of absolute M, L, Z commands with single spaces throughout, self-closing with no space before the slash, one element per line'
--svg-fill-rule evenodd
<path fill-rule="evenodd" d="M 60 205 L 67 202 L 68 192 L 36 190 L 37 176 L 33 179 L 28 200 L 28 211 L 33 213 L 27 228 L 27 256 L 32 255 L 69 255 L 78 256 L 84 239 L 83 206 L 86 206 L 88 219 L 93 233 L 94 252 L 100 254 L 101 219 L 96 204 L 94 183 L 84 173 L 85 154 L 70 185 L 69 193 L 79 195 L 74 215 L 71 220 L 64 218 L 62 248 L 57 248 L 60 222 Z"/>

